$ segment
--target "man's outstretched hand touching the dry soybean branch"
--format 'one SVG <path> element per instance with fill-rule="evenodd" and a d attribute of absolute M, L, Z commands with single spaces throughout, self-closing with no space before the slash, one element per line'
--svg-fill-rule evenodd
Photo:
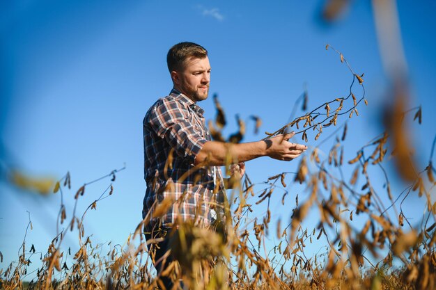
<path fill-rule="evenodd" d="M 267 143 L 267 156 L 270 156 L 272 159 L 291 161 L 305 152 L 307 149 L 306 145 L 288 142 L 294 135 L 295 133 L 292 132 L 265 140 L 265 143 Z"/>

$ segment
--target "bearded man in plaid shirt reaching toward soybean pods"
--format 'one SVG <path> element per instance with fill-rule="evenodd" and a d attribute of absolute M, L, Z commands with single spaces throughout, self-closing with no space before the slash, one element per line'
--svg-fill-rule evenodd
<path fill-rule="evenodd" d="M 150 218 L 146 239 L 161 238 L 155 267 L 162 271 L 169 250 L 169 230 L 180 222 L 209 226 L 224 215 L 225 180 L 219 166 L 228 156 L 240 162 L 231 167 L 237 177 L 244 174 L 244 161 L 269 156 L 291 161 L 306 146 L 289 143 L 293 134 L 267 141 L 229 144 L 213 141 L 205 126 L 203 109 L 197 102 L 207 99 L 210 85 L 208 51 L 192 42 L 171 47 L 167 65 L 173 81 L 169 96 L 157 100 L 143 120 L 146 196 L 143 218 Z M 156 214 L 158 204 L 167 204 Z M 161 209 L 162 211 L 162 209 Z M 171 256 L 165 256 L 166 264 Z M 166 289 L 171 281 L 162 277 Z"/>

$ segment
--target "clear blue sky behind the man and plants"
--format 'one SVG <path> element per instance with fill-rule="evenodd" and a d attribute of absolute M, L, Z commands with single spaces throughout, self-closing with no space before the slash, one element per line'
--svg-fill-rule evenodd
<path fill-rule="evenodd" d="M 320 21 L 323 1 L 10 1 L 0 4 L 2 166 L 20 168 L 35 177 L 72 177 L 65 204 L 71 213 L 75 190 L 111 170 L 119 172 L 114 195 L 88 213 L 85 229 L 95 241 L 123 244 L 141 220 L 143 182 L 142 119 L 158 97 L 171 90 L 166 52 L 180 41 L 206 47 L 212 65 L 210 92 L 217 92 L 228 117 L 226 134 L 243 120 L 259 115 L 260 132 L 288 122 L 295 98 L 304 86 L 309 108 L 348 92 L 350 72 L 333 51 L 341 51 L 357 73 L 365 73 L 369 106 L 350 120 L 345 156 L 382 127 L 378 117 L 387 98 L 370 3 L 353 1 L 333 24 Z M 414 126 L 417 159 L 428 161 L 436 134 L 433 77 L 436 4 L 400 1 L 398 13 L 409 65 L 409 106 L 423 106 L 423 124 Z M 206 118 L 215 110 L 212 98 L 201 102 Z M 301 112 L 300 112 L 301 113 Z M 248 122 L 244 141 L 263 138 Z M 332 130 L 333 131 L 333 130 Z M 296 139 L 298 140 L 298 139 Z M 309 145 L 316 143 L 309 141 Z M 331 143 L 330 145 L 331 146 Z M 297 162 L 266 158 L 247 163 L 257 182 Z M 56 234 L 59 195 L 46 197 L 18 190 L 0 179 L 0 251 L 6 268 L 17 250 L 31 212 L 27 236 L 45 252 Z M 288 184 L 290 181 L 288 182 Z M 89 186 L 79 200 L 86 209 L 110 184 Z M 398 185 L 401 188 L 401 185 Z M 281 196 L 277 198 L 277 202 Z M 290 200 L 295 195 L 290 194 Z M 419 200 L 412 199 L 419 204 Z M 260 216 L 265 209 L 260 209 Z M 67 213 L 67 215 L 68 215 Z M 277 213 L 277 214 L 276 214 Z M 71 216 L 71 214 L 70 214 Z M 70 217 L 68 216 L 68 218 Z M 277 207 L 275 218 L 290 216 Z M 67 243 L 74 244 L 70 235 Z"/>

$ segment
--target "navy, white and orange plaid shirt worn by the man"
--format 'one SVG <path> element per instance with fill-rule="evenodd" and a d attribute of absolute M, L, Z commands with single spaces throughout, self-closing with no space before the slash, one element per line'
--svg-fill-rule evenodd
<path fill-rule="evenodd" d="M 165 198 L 173 200 L 166 214 L 152 218 L 149 226 L 171 227 L 178 218 L 209 225 L 218 210 L 222 213 L 225 189 L 221 169 L 193 169 L 196 155 L 211 140 L 203 113 L 192 99 L 173 89 L 169 96 L 158 99 L 143 119 L 147 184 L 143 218 L 147 214 L 153 217 L 157 203 Z"/>

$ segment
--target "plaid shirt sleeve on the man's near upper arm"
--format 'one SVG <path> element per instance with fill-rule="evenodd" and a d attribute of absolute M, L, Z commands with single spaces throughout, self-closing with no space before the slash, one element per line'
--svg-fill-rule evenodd
<path fill-rule="evenodd" d="M 162 99 L 150 109 L 148 122 L 157 136 L 193 164 L 207 140 L 194 129 L 189 115 L 188 109 L 175 99 Z"/>

